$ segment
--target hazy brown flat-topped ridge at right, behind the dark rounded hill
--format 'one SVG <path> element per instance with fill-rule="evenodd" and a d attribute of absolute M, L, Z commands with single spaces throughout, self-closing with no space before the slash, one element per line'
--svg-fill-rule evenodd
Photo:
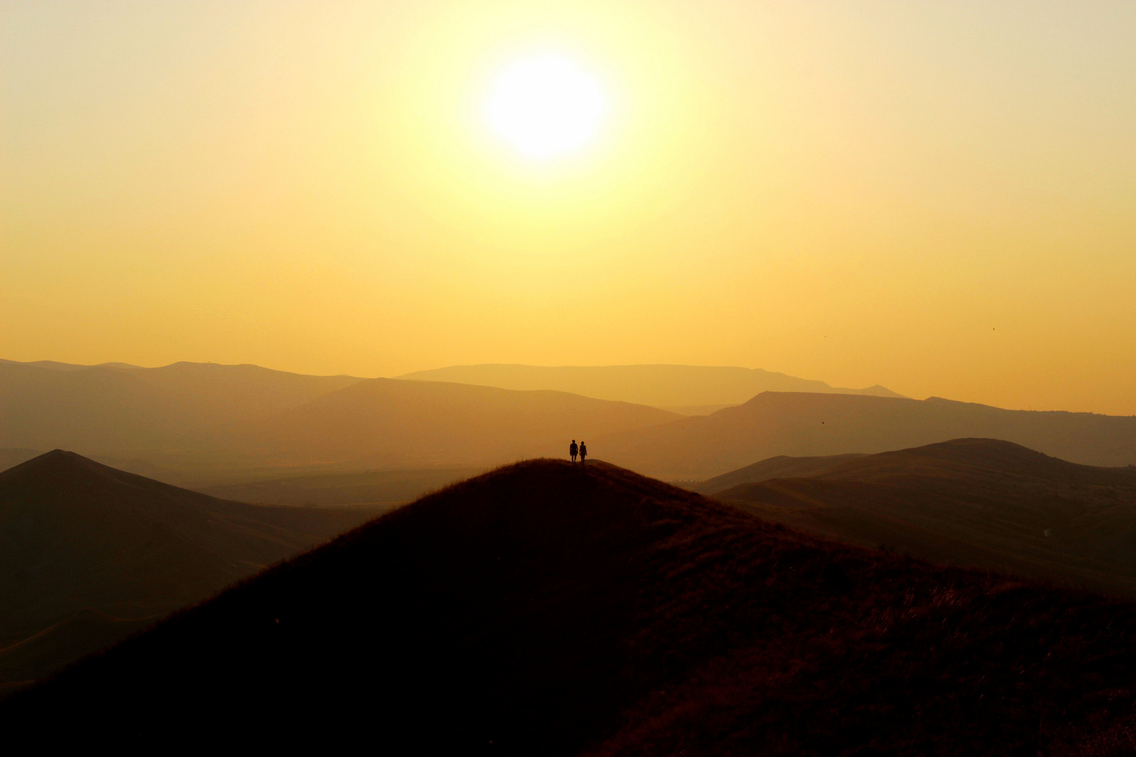
<path fill-rule="evenodd" d="M 800 392 L 763 392 L 707 417 L 588 439 L 588 448 L 644 474 L 704 480 L 778 455 L 871 454 L 966 436 L 1003 439 L 1085 465 L 1136 464 L 1136 416 Z"/>

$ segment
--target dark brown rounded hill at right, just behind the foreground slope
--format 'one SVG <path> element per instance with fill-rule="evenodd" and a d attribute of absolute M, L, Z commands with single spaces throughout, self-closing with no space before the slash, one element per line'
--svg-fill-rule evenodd
<path fill-rule="evenodd" d="M 1136 599 L 1136 468 L 1076 465 L 995 439 L 810 460 L 812 472 L 716 496 L 843 541 Z"/>

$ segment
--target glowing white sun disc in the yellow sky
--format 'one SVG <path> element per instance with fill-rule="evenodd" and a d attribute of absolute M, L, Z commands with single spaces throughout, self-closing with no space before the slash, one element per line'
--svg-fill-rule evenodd
<path fill-rule="evenodd" d="M 519 60 L 501 74 L 485 117 L 521 155 L 553 158 L 590 142 L 605 109 L 594 77 L 568 58 L 544 55 Z"/>

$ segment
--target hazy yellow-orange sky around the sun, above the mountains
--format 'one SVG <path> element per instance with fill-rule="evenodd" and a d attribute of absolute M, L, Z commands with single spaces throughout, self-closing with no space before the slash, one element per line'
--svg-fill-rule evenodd
<path fill-rule="evenodd" d="M 483 117 L 541 55 L 551 160 Z M 0 357 L 1136 414 L 1136 3 L 3 1 Z"/>

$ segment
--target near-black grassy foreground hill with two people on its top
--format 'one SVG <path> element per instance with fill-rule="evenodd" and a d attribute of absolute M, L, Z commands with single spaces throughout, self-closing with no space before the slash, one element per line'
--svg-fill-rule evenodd
<path fill-rule="evenodd" d="M 12 698 L 0 727 L 392 755 L 1120 754 L 1133 633 L 1129 604 L 537 460 L 183 612 Z"/>

